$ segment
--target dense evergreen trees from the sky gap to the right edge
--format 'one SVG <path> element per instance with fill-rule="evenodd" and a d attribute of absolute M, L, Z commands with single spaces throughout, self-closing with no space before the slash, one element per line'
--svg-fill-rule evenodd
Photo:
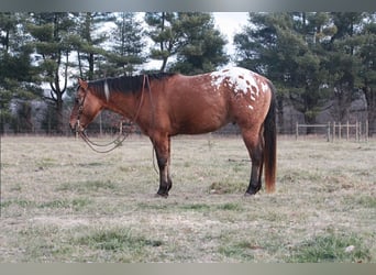
<path fill-rule="evenodd" d="M 313 124 L 323 109 L 345 122 L 365 100 L 376 131 L 376 13 L 251 13 L 234 37 L 236 63 L 265 74 L 278 88 L 279 127 L 286 101 Z"/>

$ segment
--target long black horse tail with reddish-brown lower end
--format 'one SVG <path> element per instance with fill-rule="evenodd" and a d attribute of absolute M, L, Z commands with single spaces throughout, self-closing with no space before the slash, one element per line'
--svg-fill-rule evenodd
<path fill-rule="evenodd" d="M 264 165 L 266 191 L 274 193 L 277 170 L 276 88 L 272 82 L 269 82 L 269 87 L 272 89 L 272 100 L 264 121 Z"/>

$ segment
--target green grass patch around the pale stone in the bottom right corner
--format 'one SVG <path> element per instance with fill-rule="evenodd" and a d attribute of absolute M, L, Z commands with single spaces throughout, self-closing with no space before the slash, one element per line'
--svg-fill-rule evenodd
<path fill-rule="evenodd" d="M 369 249 L 363 240 L 355 235 L 325 234 L 318 235 L 295 246 L 286 262 L 290 263 L 325 263 L 371 262 Z"/>

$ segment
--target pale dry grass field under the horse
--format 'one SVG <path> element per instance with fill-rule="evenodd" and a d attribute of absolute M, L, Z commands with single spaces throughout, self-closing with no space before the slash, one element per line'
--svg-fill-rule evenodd
<path fill-rule="evenodd" d="M 278 140 L 277 191 L 243 194 L 241 138 L 173 140 L 155 198 L 152 146 L 1 138 L 0 262 L 376 262 L 376 141 Z"/>

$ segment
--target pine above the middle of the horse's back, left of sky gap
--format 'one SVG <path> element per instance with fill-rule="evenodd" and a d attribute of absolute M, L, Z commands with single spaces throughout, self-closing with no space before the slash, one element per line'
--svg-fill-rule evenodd
<path fill-rule="evenodd" d="M 156 45 L 151 57 L 163 61 L 161 72 L 172 56 L 176 62 L 169 70 L 188 75 L 213 70 L 229 61 L 223 51 L 226 41 L 214 29 L 210 13 L 146 13 L 145 21 Z"/>

